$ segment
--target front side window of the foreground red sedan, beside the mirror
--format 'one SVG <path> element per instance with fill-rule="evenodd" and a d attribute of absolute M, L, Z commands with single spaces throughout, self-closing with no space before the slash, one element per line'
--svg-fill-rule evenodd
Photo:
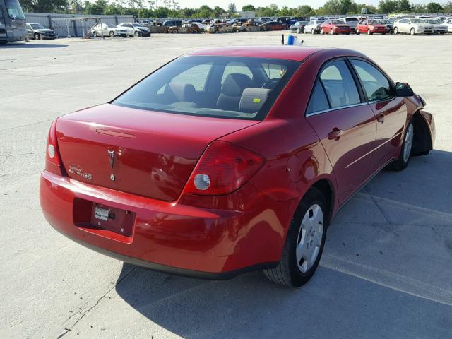
<path fill-rule="evenodd" d="M 391 83 L 378 69 L 361 60 L 352 60 L 352 65 L 355 67 L 369 101 L 385 100 L 393 96 Z"/>

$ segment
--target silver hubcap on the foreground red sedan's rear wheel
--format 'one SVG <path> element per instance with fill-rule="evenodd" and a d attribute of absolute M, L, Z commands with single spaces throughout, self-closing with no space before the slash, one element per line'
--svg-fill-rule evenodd
<path fill-rule="evenodd" d="M 308 208 L 299 227 L 295 254 L 300 272 L 306 273 L 319 256 L 323 236 L 323 211 L 318 204 Z"/>

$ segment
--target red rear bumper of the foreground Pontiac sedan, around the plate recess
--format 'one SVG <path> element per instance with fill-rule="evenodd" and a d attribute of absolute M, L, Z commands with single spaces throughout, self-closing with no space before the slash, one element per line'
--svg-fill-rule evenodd
<path fill-rule="evenodd" d="M 76 198 L 135 213 L 131 237 L 80 222 L 91 212 L 76 210 Z M 209 199 L 223 205 L 222 198 Z M 227 279 L 278 264 L 295 203 L 273 201 L 251 184 L 225 197 L 225 206 L 235 201 L 246 212 L 184 204 L 190 199 L 156 201 L 47 171 L 40 181 L 44 217 L 66 237 L 122 261 L 196 278 Z"/>

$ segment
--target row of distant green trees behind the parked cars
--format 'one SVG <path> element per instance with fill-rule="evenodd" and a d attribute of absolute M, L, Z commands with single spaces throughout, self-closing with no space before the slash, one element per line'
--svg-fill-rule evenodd
<path fill-rule="evenodd" d="M 35 13 L 73 13 L 73 14 L 105 14 L 133 15 L 138 18 L 219 18 L 237 15 L 237 6 L 230 3 L 226 9 L 219 6 L 203 5 L 199 8 L 181 8 L 176 0 L 20 0 L 27 12 Z M 452 1 L 446 4 L 430 2 L 429 4 L 413 4 L 409 0 L 380 0 L 378 6 L 357 4 L 354 0 L 328 0 L 319 8 L 300 5 L 295 8 L 287 6 L 256 7 L 246 5 L 242 11 L 254 11 L 256 16 L 322 16 L 340 14 L 359 14 L 367 8 L 369 14 L 374 13 L 450 13 Z"/>

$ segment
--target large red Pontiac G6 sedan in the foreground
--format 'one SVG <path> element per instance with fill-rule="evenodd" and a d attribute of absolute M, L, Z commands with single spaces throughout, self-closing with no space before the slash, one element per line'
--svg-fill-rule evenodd
<path fill-rule="evenodd" d="M 300 286 L 338 210 L 434 136 L 422 98 L 358 52 L 207 49 L 56 119 L 40 201 L 56 230 L 122 261 Z"/>

